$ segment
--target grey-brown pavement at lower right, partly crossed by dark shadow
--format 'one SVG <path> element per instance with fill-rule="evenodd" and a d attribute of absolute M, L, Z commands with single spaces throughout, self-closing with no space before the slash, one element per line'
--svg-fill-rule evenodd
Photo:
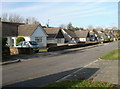
<path fill-rule="evenodd" d="M 72 74 L 69 74 L 60 81 L 67 80 L 92 80 L 92 81 L 102 81 L 109 82 L 112 84 L 119 84 L 119 75 L 118 75 L 118 60 L 101 60 L 98 59 L 87 66 L 84 66 L 82 69 L 75 71 Z M 94 73 L 94 74 L 93 74 Z M 91 74 L 93 74 L 91 76 Z"/>

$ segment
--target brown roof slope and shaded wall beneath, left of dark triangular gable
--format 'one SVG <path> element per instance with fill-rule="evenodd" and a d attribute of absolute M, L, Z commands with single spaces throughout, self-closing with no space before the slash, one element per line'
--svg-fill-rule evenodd
<path fill-rule="evenodd" d="M 48 38 L 55 38 L 56 35 L 58 34 L 59 28 L 44 28 L 45 32 L 48 35 Z"/>

